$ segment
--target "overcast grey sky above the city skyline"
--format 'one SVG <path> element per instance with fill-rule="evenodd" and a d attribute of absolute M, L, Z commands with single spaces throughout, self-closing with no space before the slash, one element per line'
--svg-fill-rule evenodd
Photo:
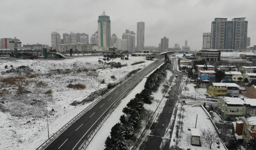
<path fill-rule="evenodd" d="M 211 32 L 216 17 L 246 17 L 251 46 L 256 45 L 256 0 L 1 0 L 0 38 L 16 36 L 24 44 L 51 45 L 51 33 L 75 31 L 89 37 L 100 14 L 110 16 L 111 35 L 122 38 L 126 29 L 137 32 L 145 22 L 145 46 L 158 46 L 164 36 L 169 47 L 179 43 L 202 48 L 202 34 Z M 137 34 L 137 33 L 136 33 Z M 90 41 L 89 41 L 90 42 Z"/>

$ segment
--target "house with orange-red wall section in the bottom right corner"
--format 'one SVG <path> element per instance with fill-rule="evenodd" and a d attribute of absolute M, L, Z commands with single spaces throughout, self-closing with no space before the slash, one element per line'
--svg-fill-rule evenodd
<path fill-rule="evenodd" d="M 236 127 L 237 135 L 242 133 L 243 144 L 246 146 L 246 143 L 250 139 L 256 138 L 256 116 L 253 117 L 239 117 L 236 118 L 239 122 L 239 127 Z"/>

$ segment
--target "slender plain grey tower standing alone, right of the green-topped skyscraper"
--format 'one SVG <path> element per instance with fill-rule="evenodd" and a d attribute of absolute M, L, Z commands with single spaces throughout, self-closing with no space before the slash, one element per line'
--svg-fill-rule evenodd
<path fill-rule="evenodd" d="M 145 22 L 137 22 L 137 51 L 144 49 Z"/>

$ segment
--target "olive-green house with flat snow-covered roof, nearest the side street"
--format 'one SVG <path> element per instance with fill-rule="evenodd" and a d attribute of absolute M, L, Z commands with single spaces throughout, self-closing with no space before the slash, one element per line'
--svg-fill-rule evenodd
<path fill-rule="evenodd" d="M 219 97 L 218 113 L 225 120 L 234 121 L 236 117 L 245 116 L 246 107 L 241 98 Z"/>

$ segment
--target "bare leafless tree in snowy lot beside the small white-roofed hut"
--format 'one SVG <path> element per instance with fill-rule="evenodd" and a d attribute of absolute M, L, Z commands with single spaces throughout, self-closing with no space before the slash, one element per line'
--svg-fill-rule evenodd
<path fill-rule="evenodd" d="M 201 130 L 201 138 L 210 147 L 210 149 L 212 149 L 212 143 L 218 141 L 217 133 L 214 130 L 211 130 L 211 129 Z"/>

